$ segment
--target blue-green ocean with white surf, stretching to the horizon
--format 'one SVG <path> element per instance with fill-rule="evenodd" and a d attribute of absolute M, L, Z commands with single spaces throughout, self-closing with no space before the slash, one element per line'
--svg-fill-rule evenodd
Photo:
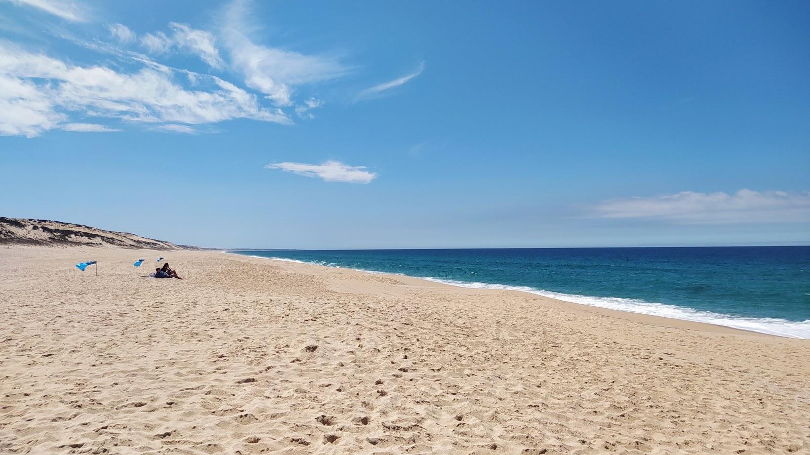
<path fill-rule="evenodd" d="M 239 250 L 810 338 L 810 246 Z"/>

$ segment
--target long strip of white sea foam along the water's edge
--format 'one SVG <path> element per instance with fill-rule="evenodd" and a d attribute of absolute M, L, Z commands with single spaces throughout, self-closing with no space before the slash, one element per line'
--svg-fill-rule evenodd
<path fill-rule="evenodd" d="M 298 261 L 297 259 L 288 259 L 287 257 L 261 257 L 262 259 L 273 259 L 275 261 L 298 262 L 300 264 L 313 264 L 315 266 L 329 266 L 338 267 L 335 264 L 326 261 Z M 372 274 L 390 274 L 387 272 L 379 272 L 376 270 L 362 270 L 354 269 L 361 272 Z M 403 275 L 403 274 L 399 274 Z M 564 300 L 574 304 L 590 305 L 592 307 L 609 308 L 619 311 L 626 311 L 629 313 L 642 313 L 652 316 L 670 317 L 672 319 L 680 319 L 682 321 L 704 322 L 706 324 L 724 325 L 733 329 L 750 330 L 752 332 L 760 332 L 761 334 L 779 335 L 787 338 L 804 338 L 810 339 L 810 320 L 808 321 L 787 321 L 777 317 L 740 317 L 723 313 L 712 313 L 710 311 L 698 310 L 688 307 L 679 307 L 669 304 L 657 304 L 654 302 L 647 302 L 645 300 L 636 299 L 622 299 L 619 297 L 594 297 L 594 296 L 579 296 L 577 294 L 565 294 L 562 292 L 545 291 L 536 287 L 528 286 L 507 286 L 505 284 L 491 284 L 491 283 L 468 283 L 464 281 L 457 281 L 453 279 L 437 279 L 433 277 L 415 277 L 418 279 L 426 279 L 435 283 L 450 284 L 457 287 L 471 287 L 474 289 L 505 289 L 508 291 L 523 291 L 531 292 L 538 296 L 551 297 L 556 300 Z"/>

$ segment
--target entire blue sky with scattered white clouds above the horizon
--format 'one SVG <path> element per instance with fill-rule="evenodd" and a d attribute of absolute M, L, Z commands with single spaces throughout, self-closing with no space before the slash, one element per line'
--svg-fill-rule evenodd
<path fill-rule="evenodd" d="M 0 0 L 0 215 L 211 247 L 807 244 L 808 23 Z"/>

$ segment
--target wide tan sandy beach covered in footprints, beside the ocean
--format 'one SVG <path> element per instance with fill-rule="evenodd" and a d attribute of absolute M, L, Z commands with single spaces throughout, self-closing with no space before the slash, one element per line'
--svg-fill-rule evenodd
<path fill-rule="evenodd" d="M 0 302 L 0 453 L 810 453 L 808 340 L 220 252 Z"/>

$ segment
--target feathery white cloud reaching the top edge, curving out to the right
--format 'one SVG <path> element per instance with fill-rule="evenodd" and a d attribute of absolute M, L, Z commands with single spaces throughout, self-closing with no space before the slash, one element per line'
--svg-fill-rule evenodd
<path fill-rule="evenodd" d="M 234 69 L 245 76 L 248 87 L 266 94 L 280 106 L 292 104 L 293 87 L 337 78 L 347 72 L 335 58 L 305 55 L 257 45 L 246 34 L 245 3 L 232 2 L 225 11 L 223 41 Z"/>

